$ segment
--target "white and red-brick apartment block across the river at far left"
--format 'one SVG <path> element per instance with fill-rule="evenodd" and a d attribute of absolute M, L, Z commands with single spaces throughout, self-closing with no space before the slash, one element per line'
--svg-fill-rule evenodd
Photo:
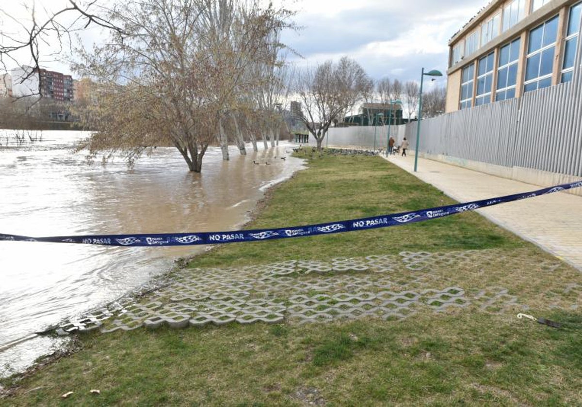
<path fill-rule="evenodd" d="M 14 97 L 41 95 L 56 101 L 73 101 L 73 78 L 60 72 L 30 66 L 10 71 Z"/>

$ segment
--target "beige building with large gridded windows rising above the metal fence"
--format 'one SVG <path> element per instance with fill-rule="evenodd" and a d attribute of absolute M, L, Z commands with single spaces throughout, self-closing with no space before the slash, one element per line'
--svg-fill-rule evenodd
<path fill-rule="evenodd" d="M 580 0 L 494 0 L 449 41 L 446 112 L 572 80 Z"/>

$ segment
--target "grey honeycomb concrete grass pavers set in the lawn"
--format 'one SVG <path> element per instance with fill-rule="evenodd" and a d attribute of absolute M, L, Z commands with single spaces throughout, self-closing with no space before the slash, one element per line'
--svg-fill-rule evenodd
<path fill-rule="evenodd" d="M 239 269 L 182 269 L 166 277 L 166 283 L 147 297 L 70 320 L 59 332 L 97 329 L 109 333 L 164 325 L 179 329 L 208 323 L 303 324 L 361 317 L 398 320 L 418 312 L 468 307 L 492 313 L 524 312 L 538 304 L 539 298 L 515 295 L 513 283 L 503 286 L 498 278 L 471 280 L 478 273 L 495 273 L 514 256 L 495 249 L 401 252 Z M 527 270 L 537 269 L 535 276 L 540 278 L 545 272 L 567 267 L 558 259 L 542 264 L 526 256 L 520 261 L 528 262 Z M 456 270 L 464 270 L 469 277 L 460 279 Z M 562 279 L 553 288 L 540 281 L 536 284 L 542 290 L 535 288 L 534 296 L 541 296 L 546 306 L 574 309 L 582 298 L 582 286 L 571 279 Z M 553 298 L 552 304 L 548 298 Z"/>

